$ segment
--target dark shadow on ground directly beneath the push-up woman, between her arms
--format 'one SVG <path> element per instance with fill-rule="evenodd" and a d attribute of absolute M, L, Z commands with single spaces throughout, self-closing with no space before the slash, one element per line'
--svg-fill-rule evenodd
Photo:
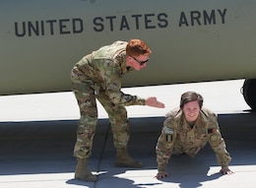
<path fill-rule="evenodd" d="M 180 188 L 196 188 L 201 187 L 203 182 L 211 181 L 223 176 L 219 173 L 221 166 L 217 171 L 208 174 L 211 165 L 218 165 L 216 158 L 209 157 L 207 160 L 203 159 L 204 154 L 196 157 L 189 157 L 186 155 L 171 157 L 167 171 L 169 176 L 160 181 L 178 183 Z"/>

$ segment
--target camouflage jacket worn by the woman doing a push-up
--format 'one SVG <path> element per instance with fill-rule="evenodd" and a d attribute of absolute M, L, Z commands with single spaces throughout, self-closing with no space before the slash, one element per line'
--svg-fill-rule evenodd
<path fill-rule="evenodd" d="M 165 171 L 173 149 L 179 154 L 185 153 L 194 157 L 207 143 L 212 147 L 222 167 L 228 167 L 231 157 L 225 150 L 217 115 L 202 108 L 191 128 L 181 110 L 171 110 L 166 114 L 156 148 L 159 171 Z"/>

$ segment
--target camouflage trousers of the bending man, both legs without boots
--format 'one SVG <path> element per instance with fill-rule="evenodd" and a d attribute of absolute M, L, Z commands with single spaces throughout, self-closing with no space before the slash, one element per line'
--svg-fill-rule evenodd
<path fill-rule="evenodd" d="M 72 90 L 77 98 L 81 118 L 77 129 L 77 142 L 74 157 L 91 157 L 93 140 L 96 133 L 97 107 L 96 99 L 102 104 L 108 114 L 113 134 L 115 148 L 126 147 L 129 140 L 129 126 L 126 108 L 112 103 L 103 91 L 95 91 L 95 84 L 88 80 L 83 83 L 73 82 Z"/>

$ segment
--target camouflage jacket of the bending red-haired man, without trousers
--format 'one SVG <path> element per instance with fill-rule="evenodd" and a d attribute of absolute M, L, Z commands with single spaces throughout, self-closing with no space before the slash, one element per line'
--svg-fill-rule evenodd
<path fill-rule="evenodd" d="M 144 98 L 121 92 L 121 78 L 133 71 L 126 67 L 126 45 L 118 40 L 83 57 L 72 70 L 72 84 L 83 90 L 83 83 L 91 82 L 96 94 L 105 92 L 115 104 L 145 105 Z"/>

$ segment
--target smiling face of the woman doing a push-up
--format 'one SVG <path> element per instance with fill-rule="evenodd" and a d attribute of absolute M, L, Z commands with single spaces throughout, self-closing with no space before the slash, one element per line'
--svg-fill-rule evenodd
<path fill-rule="evenodd" d="M 187 102 L 183 108 L 183 113 L 185 114 L 185 118 L 187 122 L 194 122 L 197 120 L 197 117 L 200 112 L 200 106 L 197 100 Z"/>

